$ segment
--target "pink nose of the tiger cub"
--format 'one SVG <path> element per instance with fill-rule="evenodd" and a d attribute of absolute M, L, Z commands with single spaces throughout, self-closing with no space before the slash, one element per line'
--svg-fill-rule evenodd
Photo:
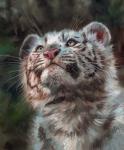
<path fill-rule="evenodd" d="M 44 55 L 45 58 L 51 60 L 51 59 L 54 59 L 58 55 L 59 51 L 60 50 L 58 48 L 53 48 L 53 49 L 50 49 L 50 50 L 48 49 L 43 53 L 43 55 Z"/>

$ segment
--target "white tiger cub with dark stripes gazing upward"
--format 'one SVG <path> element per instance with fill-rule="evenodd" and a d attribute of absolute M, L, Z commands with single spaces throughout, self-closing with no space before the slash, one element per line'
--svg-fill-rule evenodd
<path fill-rule="evenodd" d="M 124 99 L 110 41 L 99 22 L 24 40 L 22 83 L 37 112 L 29 150 L 124 149 Z"/>

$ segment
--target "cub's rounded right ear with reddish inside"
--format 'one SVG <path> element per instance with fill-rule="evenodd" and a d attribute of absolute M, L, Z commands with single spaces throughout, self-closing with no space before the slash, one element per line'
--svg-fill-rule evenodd
<path fill-rule="evenodd" d="M 100 22 L 91 22 L 82 29 L 82 32 L 91 42 L 96 41 L 106 46 L 111 41 L 109 29 Z"/>

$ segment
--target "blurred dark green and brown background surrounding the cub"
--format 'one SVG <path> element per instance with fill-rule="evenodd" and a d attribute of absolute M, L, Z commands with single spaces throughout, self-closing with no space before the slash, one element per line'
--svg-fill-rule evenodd
<path fill-rule="evenodd" d="M 29 33 L 79 29 L 101 21 L 112 33 L 124 85 L 124 0 L 0 0 L 0 150 L 26 150 L 34 114 L 20 85 L 19 48 Z"/>

